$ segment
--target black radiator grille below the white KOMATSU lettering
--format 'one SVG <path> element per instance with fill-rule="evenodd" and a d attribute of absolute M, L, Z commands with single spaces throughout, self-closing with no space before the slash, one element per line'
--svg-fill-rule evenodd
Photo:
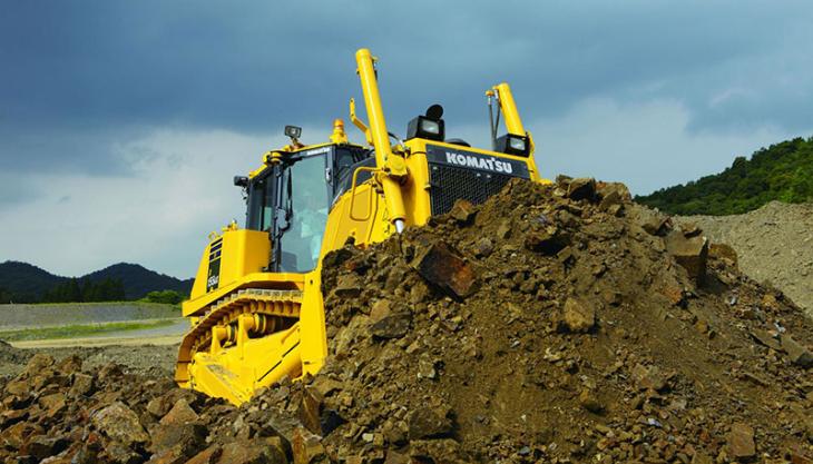
<path fill-rule="evenodd" d="M 454 201 L 460 198 L 474 205 L 482 204 L 502 190 L 511 177 L 430 162 L 429 178 L 432 188 L 429 197 L 432 203 L 432 216 L 449 213 Z"/>

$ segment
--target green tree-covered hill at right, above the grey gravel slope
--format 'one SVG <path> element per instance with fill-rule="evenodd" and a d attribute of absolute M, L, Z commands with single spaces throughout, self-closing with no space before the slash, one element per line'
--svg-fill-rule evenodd
<path fill-rule="evenodd" d="M 635 200 L 675 215 L 733 215 L 772 200 L 813 201 L 813 137 L 737 157 L 723 172 L 663 188 Z"/>

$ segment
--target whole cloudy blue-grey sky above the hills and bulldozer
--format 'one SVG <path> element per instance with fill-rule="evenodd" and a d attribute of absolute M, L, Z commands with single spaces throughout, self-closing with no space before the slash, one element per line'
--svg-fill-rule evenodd
<path fill-rule="evenodd" d="M 809 1 L 0 1 L 0 260 L 68 275 L 192 275 L 231 175 L 346 118 L 360 47 L 396 132 L 441 102 L 483 144 L 509 81 L 550 177 L 648 192 L 813 134 Z"/>

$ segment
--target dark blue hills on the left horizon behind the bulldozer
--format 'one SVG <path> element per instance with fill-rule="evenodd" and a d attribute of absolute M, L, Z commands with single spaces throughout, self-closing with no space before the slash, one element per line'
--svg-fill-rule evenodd
<path fill-rule="evenodd" d="M 70 277 L 53 275 L 28 263 L 0 263 L 0 303 L 38 303 L 45 295 L 65 286 Z M 126 299 L 140 299 L 150 292 L 175 290 L 188 295 L 193 279 L 180 280 L 149 270 L 137 264 L 119 263 L 77 280 L 90 283 L 120 282 Z"/>

